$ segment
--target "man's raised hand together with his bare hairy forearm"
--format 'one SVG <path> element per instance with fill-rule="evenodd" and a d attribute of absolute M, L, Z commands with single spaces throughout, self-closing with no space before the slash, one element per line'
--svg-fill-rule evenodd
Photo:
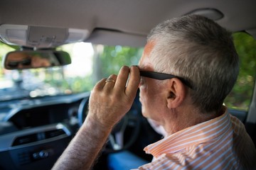
<path fill-rule="evenodd" d="M 91 168 L 112 127 L 131 108 L 139 81 L 137 67 L 122 67 L 117 76 L 111 75 L 95 85 L 85 122 L 53 169 Z"/>

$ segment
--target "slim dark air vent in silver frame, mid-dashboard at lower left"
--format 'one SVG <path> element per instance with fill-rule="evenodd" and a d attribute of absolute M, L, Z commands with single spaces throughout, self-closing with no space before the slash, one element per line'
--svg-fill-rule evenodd
<path fill-rule="evenodd" d="M 32 142 L 37 142 L 40 140 L 46 140 L 52 137 L 58 137 L 60 135 L 64 135 L 65 131 L 62 129 L 58 130 L 48 130 L 46 132 L 38 132 L 31 135 L 24 135 L 21 137 L 16 137 L 16 139 L 13 142 L 13 147 L 18 145 L 24 145 Z"/>

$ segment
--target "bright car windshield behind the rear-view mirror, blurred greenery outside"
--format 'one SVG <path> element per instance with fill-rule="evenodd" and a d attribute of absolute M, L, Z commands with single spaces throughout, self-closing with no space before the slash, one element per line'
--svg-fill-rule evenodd
<path fill-rule="evenodd" d="M 13 48 L 0 44 L 0 60 Z M 58 47 L 70 53 L 63 67 L 7 70 L 0 67 L 0 101 L 77 94 L 90 91 L 97 81 L 117 74 L 122 65 L 137 64 L 142 48 L 92 45 L 78 42 Z"/>

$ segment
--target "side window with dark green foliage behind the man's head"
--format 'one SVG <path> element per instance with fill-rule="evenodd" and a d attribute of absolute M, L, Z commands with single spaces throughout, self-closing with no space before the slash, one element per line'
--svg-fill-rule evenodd
<path fill-rule="evenodd" d="M 240 58 L 240 72 L 224 103 L 228 108 L 248 111 L 256 76 L 256 40 L 247 33 L 234 33 L 233 38 Z"/>

